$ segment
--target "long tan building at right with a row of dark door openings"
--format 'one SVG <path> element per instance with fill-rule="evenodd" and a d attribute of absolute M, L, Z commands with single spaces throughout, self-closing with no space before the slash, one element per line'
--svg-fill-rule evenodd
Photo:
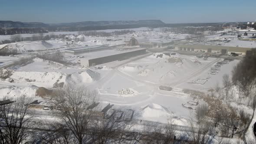
<path fill-rule="evenodd" d="M 177 45 L 175 50 L 180 51 L 202 51 L 202 52 L 217 52 L 229 54 L 235 52 L 239 55 L 246 55 L 251 51 L 251 48 L 232 47 L 232 46 L 211 46 L 211 45 Z"/>

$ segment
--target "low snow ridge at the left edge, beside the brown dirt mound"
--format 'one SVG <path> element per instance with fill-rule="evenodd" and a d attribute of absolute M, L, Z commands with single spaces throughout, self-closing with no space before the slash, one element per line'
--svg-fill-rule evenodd
<path fill-rule="evenodd" d="M 35 85 L 30 85 L 26 87 L 16 87 L 16 86 L 10 86 L 10 87 L 2 87 L 0 88 L 0 98 L 3 97 L 20 97 L 22 95 L 26 95 L 28 97 L 35 97 L 36 90 L 38 87 Z"/>

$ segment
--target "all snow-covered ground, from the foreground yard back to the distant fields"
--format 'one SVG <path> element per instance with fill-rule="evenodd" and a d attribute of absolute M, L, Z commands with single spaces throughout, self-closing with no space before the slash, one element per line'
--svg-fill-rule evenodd
<path fill-rule="evenodd" d="M 115 30 L 117 29 L 103 31 L 112 32 Z M 30 53 L 37 53 L 36 51 L 51 53 L 56 49 L 121 45 L 127 43 L 131 37 L 135 37 L 139 42 L 171 42 L 172 40 L 193 36 L 162 32 L 161 29 L 138 28 L 130 30 L 134 30 L 134 32 L 109 37 L 78 36 L 78 32 L 54 32 L 54 34 L 66 34 L 67 36 L 73 34 L 78 36 L 79 41 L 53 39 L 0 45 L 0 49 L 8 47 L 8 49 L 17 49 L 22 52 L 21 55 L 15 57 L 0 56 L 0 62 L 3 62 L 3 64 L 9 61 L 15 62 L 21 56 L 26 57 Z M 29 34 L 22 36 L 29 36 Z M 0 38 L 4 37 L 7 38 L 7 36 L 0 36 Z M 241 42 L 236 36 L 231 37 L 231 35 L 224 36 L 231 39 L 228 43 L 207 40 L 213 37 L 216 36 L 206 37 L 204 39 L 205 43 L 221 43 L 222 45 L 238 45 L 241 47 L 254 46 L 254 42 Z M 82 55 L 86 56 L 86 53 Z M 231 74 L 233 66 L 239 62 L 238 60 L 227 62 L 227 64 L 218 68 L 219 70 L 216 73 L 210 74 L 211 68 L 223 59 L 208 58 L 203 60 L 203 58 L 200 59 L 196 56 L 185 56 L 178 53 L 170 55 L 170 52 L 159 52 L 152 53 L 150 56 L 143 56 L 141 59 L 109 62 L 88 68 L 79 65 L 79 58 L 72 57 L 71 54 L 65 54 L 64 56 L 66 61 L 72 62 L 73 65 L 63 65 L 34 58 L 32 62 L 26 65 L 11 66 L 8 70 L 11 73 L 9 78 L 0 80 L 0 86 L 2 86 L 0 97 L 6 95 L 19 96 L 21 94 L 36 97 L 36 90 L 41 86 L 53 88 L 62 85 L 83 85 L 98 92 L 101 105 L 111 103 L 121 108 L 134 109 L 138 112 L 138 119 L 142 120 L 166 123 L 168 118 L 174 118 L 176 124 L 187 125 L 186 119 L 190 117 L 194 110 L 185 108 L 182 104 L 187 104 L 188 101 L 199 101 L 200 103 L 202 100 L 194 100 L 190 95 L 185 94 L 183 89 L 207 92 L 217 83 L 221 86 L 222 76 L 226 73 Z M 4 70 L 7 71 L 7 69 Z M 159 88 L 161 85 L 171 87 L 172 90 L 161 90 Z"/>

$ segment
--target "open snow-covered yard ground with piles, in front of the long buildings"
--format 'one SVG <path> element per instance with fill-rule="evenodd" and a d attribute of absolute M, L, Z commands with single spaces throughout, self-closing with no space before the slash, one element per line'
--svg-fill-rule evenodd
<path fill-rule="evenodd" d="M 65 57 L 70 62 L 79 60 L 76 57 L 69 58 L 68 55 Z M 220 60 L 222 59 L 203 60 L 196 56 L 178 53 L 170 55 L 170 52 L 163 52 L 152 53 L 142 59 L 116 61 L 87 68 L 34 58 L 26 65 L 12 66 L 4 71 L 11 75 L 8 79 L 0 80 L 0 85 L 7 86 L 1 89 L 0 96 L 27 94 L 36 97 L 37 87 L 83 85 L 96 90 L 98 99 L 103 103 L 134 109 L 138 112 L 138 119 L 166 123 L 168 118 L 173 118 L 176 124 L 187 125 L 186 119 L 194 110 L 185 108 L 182 104 L 194 100 L 182 89 L 207 91 L 222 79 L 224 73 L 230 73 L 238 62 L 232 61 L 223 65 L 217 75 L 210 75 L 211 67 Z M 115 66 L 112 66 L 113 63 Z M 204 85 L 190 83 L 207 77 L 210 79 Z M 161 85 L 173 89 L 160 90 Z M 20 93 L 21 91 L 23 92 Z"/>

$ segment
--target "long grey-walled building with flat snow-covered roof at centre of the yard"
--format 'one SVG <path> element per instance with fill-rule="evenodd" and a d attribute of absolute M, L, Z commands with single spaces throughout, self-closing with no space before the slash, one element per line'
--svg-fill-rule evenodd
<path fill-rule="evenodd" d="M 114 51 L 114 50 L 104 50 L 99 52 L 91 52 L 85 56 L 85 58 L 81 59 L 82 66 L 93 66 L 99 65 L 107 62 L 113 62 L 117 60 L 124 60 L 129 59 L 134 56 L 143 55 L 146 53 L 146 49 L 129 49 L 129 50 L 121 50 L 121 51 Z M 80 56 L 80 55 L 79 55 Z"/>

